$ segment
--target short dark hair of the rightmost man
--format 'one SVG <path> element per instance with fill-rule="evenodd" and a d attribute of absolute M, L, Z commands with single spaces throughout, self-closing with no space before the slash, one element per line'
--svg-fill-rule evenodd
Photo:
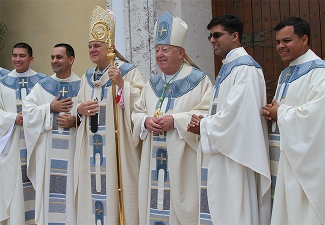
<path fill-rule="evenodd" d="M 308 46 L 310 42 L 310 28 L 308 22 L 299 18 L 299 17 L 287 17 L 280 21 L 275 27 L 274 30 L 278 31 L 282 29 L 284 26 L 293 26 L 293 33 L 297 35 L 299 38 L 303 37 L 303 35 L 307 35 L 308 37 Z"/>

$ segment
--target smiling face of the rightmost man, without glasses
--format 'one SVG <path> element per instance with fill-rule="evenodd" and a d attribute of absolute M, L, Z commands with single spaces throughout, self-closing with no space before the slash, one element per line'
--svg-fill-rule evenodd
<path fill-rule="evenodd" d="M 294 34 L 293 26 L 284 26 L 276 31 L 276 50 L 282 61 L 291 62 L 304 54 L 308 49 L 308 37 L 301 38 Z"/>

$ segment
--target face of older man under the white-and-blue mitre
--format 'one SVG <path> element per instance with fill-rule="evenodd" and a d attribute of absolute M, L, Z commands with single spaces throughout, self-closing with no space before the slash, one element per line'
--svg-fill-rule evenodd
<path fill-rule="evenodd" d="M 185 50 L 168 44 L 158 44 L 155 46 L 155 59 L 160 70 L 170 75 L 178 71 L 184 61 Z"/>

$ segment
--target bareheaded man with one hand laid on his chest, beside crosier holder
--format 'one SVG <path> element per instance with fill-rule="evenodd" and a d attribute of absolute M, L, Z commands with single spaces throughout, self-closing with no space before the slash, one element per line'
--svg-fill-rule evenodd
<path fill-rule="evenodd" d="M 75 115 L 80 78 L 71 71 L 74 50 L 56 44 L 51 54 L 54 74 L 35 84 L 23 99 L 27 175 L 35 191 L 35 223 L 76 224 L 73 194 Z"/>

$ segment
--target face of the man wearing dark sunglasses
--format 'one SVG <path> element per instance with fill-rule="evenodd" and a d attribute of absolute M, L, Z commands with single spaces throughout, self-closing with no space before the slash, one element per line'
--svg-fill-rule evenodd
<path fill-rule="evenodd" d="M 214 38 L 213 36 L 210 39 L 210 43 L 213 46 L 214 53 L 216 55 L 221 55 L 225 58 L 227 53 L 233 48 L 237 47 L 238 44 L 236 40 L 238 39 L 237 32 L 227 33 L 228 31 L 223 29 L 221 24 L 217 24 L 211 27 L 210 34 L 213 33 L 223 33 L 219 37 Z M 240 43 L 239 45 L 240 46 Z"/>

